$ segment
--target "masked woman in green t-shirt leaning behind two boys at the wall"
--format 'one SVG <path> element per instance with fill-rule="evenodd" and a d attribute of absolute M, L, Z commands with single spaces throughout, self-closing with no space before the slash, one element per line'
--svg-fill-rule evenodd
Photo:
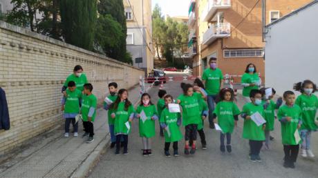
<path fill-rule="evenodd" d="M 69 81 L 74 81 L 76 84 L 76 88 L 78 90 L 81 90 L 81 91 L 84 90 L 83 86 L 85 83 L 88 83 L 88 81 L 87 81 L 86 75 L 83 72 L 82 66 L 79 66 L 79 65 L 75 66 L 73 73 L 71 75 L 68 75 L 62 87 L 63 93 L 65 92 Z"/>

